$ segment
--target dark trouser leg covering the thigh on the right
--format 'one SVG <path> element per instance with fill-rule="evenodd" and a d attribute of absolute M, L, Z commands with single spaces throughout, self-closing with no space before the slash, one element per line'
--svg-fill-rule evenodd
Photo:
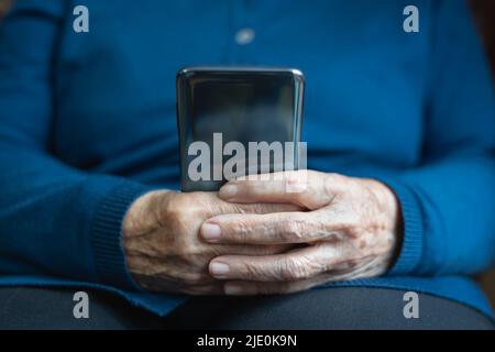
<path fill-rule="evenodd" d="M 404 316 L 404 290 L 332 287 L 243 298 L 212 323 L 223 329 L 493 329 L 482 314 L 419 294 L 419 318 Z"/>

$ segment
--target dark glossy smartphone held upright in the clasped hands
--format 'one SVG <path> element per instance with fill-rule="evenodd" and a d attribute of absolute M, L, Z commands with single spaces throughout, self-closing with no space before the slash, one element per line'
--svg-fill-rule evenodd
<path fill-rule="evenodd" d="M 301 72 L 187 67 L 176 82 L 183 191 L 218 190 L 232 177 L 298 168 Z"/>

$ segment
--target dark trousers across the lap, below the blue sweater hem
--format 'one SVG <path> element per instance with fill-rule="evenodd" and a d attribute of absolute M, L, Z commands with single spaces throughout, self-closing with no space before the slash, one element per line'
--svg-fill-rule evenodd
<path fill-rule="evenodd" d="M 89 295 L 89 318 L 73 314 L 75 289 L 0 288 L 0 329 L 494 329 L 466 306 L 419 295 L 419 318 L 404 316 L 404 292 L 318 288 L 285 296 L 196 297 L 160 318 L 123 298 Z"/>

